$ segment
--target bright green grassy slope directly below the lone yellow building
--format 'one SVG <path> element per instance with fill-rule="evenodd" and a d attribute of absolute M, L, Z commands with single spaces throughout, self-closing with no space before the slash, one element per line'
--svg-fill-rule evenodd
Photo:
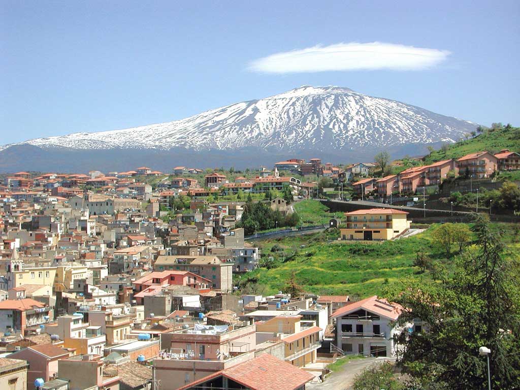
<path fill-rule="evenodd" d="M 437 225 L 409 238 L 386 242 L 337 241 L 337 230 L 305 236 L 257 241 L 264 257 L 273 257 L 270 269 L 259 268 L 248 274 L 242 285 L 257 286 L 257 293 L 272 294 L 283 289 L 294 275 L 307 292 L 367 297 L 379 294 L 387 283 L 406 276 L 428 278 L 413 266 L 422 250 L 448 269 L 453 256 L 447 257 L 432 240 Z M 520 253 L 518 225 L 495 225 L 507 230 L 504 242 L 511 256 Z"/>

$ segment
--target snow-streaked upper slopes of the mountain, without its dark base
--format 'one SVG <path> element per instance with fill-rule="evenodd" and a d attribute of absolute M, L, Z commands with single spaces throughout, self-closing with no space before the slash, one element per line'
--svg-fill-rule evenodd
<path fill-rule="evenodd" d="M 340 87 L 303 86 L 190 118 L 23 144 L 72 149 L 351 150 L 455 141 L 476 124 Z M 5 148 L 5 147 L 4 147 Z M 4 149 L 2 148 L 2 149 Z"/>

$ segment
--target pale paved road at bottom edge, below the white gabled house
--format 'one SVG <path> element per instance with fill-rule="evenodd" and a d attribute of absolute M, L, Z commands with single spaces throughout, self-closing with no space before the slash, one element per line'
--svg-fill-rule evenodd
<path fill-rule="evenodd" d="M 337 371 L 327 376 L 323 383 L 307 384 L 308 390 L 348 390 L 352 388 L 356 375 L 372 365 L 379 365 L 392 358 L 365 358 L 346 362 Z"/>

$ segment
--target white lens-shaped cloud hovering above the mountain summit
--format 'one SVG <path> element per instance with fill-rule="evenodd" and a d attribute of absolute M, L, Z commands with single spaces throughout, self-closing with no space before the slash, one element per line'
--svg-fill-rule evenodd
<path fill-rule="evenodd" d="M 258 58 L 248 69 L 261 73 L 352 70 L 421 70 L 443 62 L 450 52 L 391 43 L 339 43 L 285 51 Z"/>

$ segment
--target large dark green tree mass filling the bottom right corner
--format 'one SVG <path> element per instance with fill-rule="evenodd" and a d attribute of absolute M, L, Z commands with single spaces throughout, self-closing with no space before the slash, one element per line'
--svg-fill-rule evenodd
<path fill-rule="evenodd" d="M 476 216 L 472 230 L 476 250 L 457 257 L 442 280 L 410 278 L 384 293 L 404 307 L 401 321 L 420 318 L 427 324 L 425 332 L 402 332 L 397 340 L 405 346 L 399 365 L 420 384 L 414 388 L 486 388 L 480 346 L 491 349 L 493 388 L 520 388 L 518 269 L 504 253 L 503 233 L 486 216 Z"/>

